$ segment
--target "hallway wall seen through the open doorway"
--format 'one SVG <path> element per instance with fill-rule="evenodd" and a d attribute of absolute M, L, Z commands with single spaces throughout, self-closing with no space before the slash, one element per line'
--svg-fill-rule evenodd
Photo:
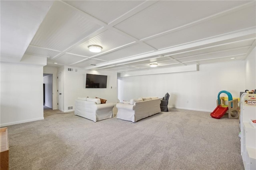
<path fill-rule="evenodd" d="M 52 109 L 52 74 L 43 77 L 45 84 L 45 106 Z"/>

